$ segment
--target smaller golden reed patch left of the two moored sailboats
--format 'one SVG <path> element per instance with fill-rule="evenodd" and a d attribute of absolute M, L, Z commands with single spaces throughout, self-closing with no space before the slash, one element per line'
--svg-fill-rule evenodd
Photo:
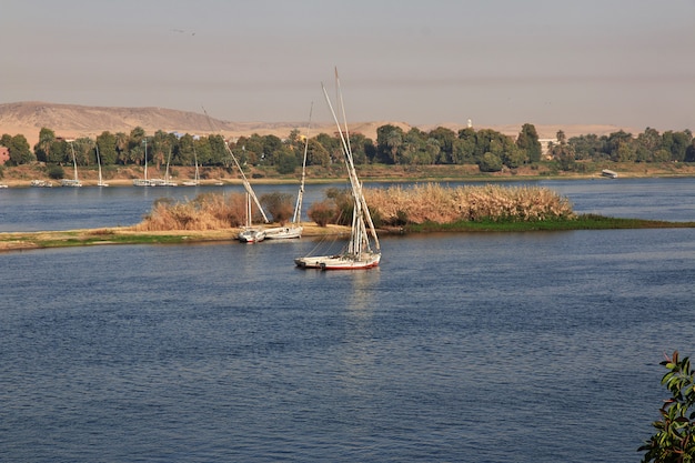
<path fill-rule="evenodd" d="M 220 230 L 245 222 L 246 198 L 234 193 L 201 194 L 192 201 L 157 201 L 152 211 L 135 225 L 138 231 Z"/>

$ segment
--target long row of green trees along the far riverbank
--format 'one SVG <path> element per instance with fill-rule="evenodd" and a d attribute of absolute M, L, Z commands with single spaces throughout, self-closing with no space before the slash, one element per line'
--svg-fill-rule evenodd
<path fill-rule="evenodd" d="M 102 132 L 95 140 L 80 138 L 71 143 L 57 138 L 48 128 L 41 129 L 39 142 L 30 150 L 23 135 L 2 135 L 0 144 L 10 150 L 11 165 L 34 161 L 47 164 L 95 165 L 97 153 L 102 165 L 142 165 L 145 162 L 161 167 L 202 165 L 229 167 L 232 162 L 222 135 L 194 137 L 157 131 L 147 135 L 142 128 L 124 132 Z M 230 149 L 242 164 L 270 165 L 281 173 L 292 172 L 300 165 L 304 139 L 299 130 L 281 140 L 276 135 L 242 137 L 231 143 Z M 491 129 L 465 128 L 459 132 L 436 128 L 425 132 L 416 128 L 404 131 L 400 127 L 385 124 L 376 130 L 376 141 L 363 134 L 351 134 L 351 147 L 357 164 L 477 164 L 482 171 L 498 171 L 542 160 L 542 147 L 533 124 L 524 124 L 518 135 L 503 134 Z M 695 141 L 689 130 L 659 133 L 647 128 L 633 137 L 618 131 L 610 135 L 586 134 L 567 139 L 561 130 L 556 141 L 548 147 L 548 155 L 560 163 L 561 169 L 572 170 L 578 161 L 615 162 L 693 162 Z M 336 134 L 319 133 L 308 144 L 308 163 L 329 167 L 342 162 L 341 141 Z"/>

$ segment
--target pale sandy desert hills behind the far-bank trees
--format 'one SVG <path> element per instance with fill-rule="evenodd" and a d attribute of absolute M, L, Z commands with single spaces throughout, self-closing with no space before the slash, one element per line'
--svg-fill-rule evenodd
<path fill-rule="evenodd" d="M 208 118 L 204 113 L 192 111 L 178 111 L 167 108 L 118 108 L 118 107 L 84 107 L 77 104 L 58 104 L 47 102 L 17 102 L 0 104 L 0 134 L 23 134 L 30 147 L 39 140 L 41 128 L 49 128 L 58 137 L 95 138 L 103 131 L 111 133 L 130 133 L 135 127 L 141 127 L 147 133 L 157 130 L 177 131 L 192 134 L 222 133 L 226 138 L 249 137 L 253 133 L 259 135 L 274 134 L 285 138 L 292 130 L 305 129 L 304 121 L 298 122 L 230 122 Z M 366 138 L 376 140 L 376 129 L 385 124 L 400 127 L 404 131 L 411 129 L 406 122 L 355 122 L 350 124 L 352 132 L 362 133 Z M 533 123 L 533 122 L 532 122 Z M 521 131 L 523 123 L 507 125 L 474 127 L 480 129 L 493 129 L 502 133 L 515 137 Z M 423 131 L 430 131 L 437 127 L 444 127 L 454 131 L 463 129 L 463 123 L 439 123 L 417 125 Z M 535 125 L 541 139 L 552 139 L 558 130 L 563 130 L 567 137 L 594 133 L 597 135 L 610 134 L 621 129 L 636 134 L 639 130 L 620 128 L 616 125 Z M 312 122 L 312 132 L 333 133 L 332 123 Z"/>

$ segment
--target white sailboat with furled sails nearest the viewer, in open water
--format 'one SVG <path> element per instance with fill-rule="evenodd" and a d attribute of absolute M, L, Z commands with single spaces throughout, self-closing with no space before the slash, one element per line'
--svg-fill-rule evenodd
<path fill-rule="evenodd" d="M 321 270 L 362 270 L 371 269 L 379 265 L 381 261 L 381 246 L 379 244 L 379 236 L 374 229 L 372 215 L 364 200 L 362 193 L 362 183 L 357 179 L 354 161 L 352 157 L 352 149 L 350 147 L 350 135 L 348 133 L 348 121 L 345 119 L 345 108 L 343 105 L 343 98 L 340 91 L 340 81 L 338 79 L 338 70 L 335 70 L 335 83 L 338 87 L 340 110 L 342 111 L 344 129 L 335 115 L 333 104 L 329 98 L 325 87 L 321 84 L 323 89 L 323 95 L 329 104 L 333 120 L 338 127 L 338 133 L 340 134 L 341 144 L 343 149 L 343 158 L 345 160 L 345 167 L 348 168 L 348 175 L 350 178 L 350 185 L 353 199 L 353 214 L 352 227 L 350 230 L 350 241 L 345 249 L 339 254 L 334 255 L 319 255 L 319 256 L 304 256 L 294 259 L 296 266 L 301 269 L 321 269 Z M 369 230 L 367 230 L 369 227 Z M 374 249 L 372 249 L 373 241 Z"/>

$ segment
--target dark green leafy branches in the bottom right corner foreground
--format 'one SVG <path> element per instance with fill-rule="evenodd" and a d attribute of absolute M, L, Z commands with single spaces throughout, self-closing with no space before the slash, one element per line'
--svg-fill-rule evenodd
<path fill-rule="evenodd" d="M 695 461 L 695 379 L 691 360 L 679 359 L 678 351 L 661 362 L 668 372 L 662 384 L 671 392 L 671 399 L 659 409 L 659 421 L 652 423 L 656 429 L 638 451 L 646 451 L 643 462 L 684 463 Z"/>

